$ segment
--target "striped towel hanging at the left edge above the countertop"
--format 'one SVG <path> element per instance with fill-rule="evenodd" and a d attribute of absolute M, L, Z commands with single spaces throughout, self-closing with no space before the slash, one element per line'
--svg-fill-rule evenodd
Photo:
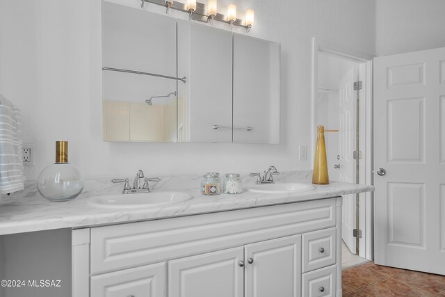
<path fill-rule="evenodd" d="M 0 94 L 0 194 L 24 189 L 22 113 Z"/>

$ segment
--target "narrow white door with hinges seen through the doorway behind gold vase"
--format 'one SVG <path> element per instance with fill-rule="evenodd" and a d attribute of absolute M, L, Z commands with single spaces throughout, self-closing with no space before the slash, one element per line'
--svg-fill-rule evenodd
<path fill-rule="evenodd" d="M 356 134 L 356 103 L 357 91 L 354 90 L 354 82 L 357 81 L 358 67 L 353 66 L 339 81 L 340 102 L 340 159 L 339 181 L 355 183 L 355 134 Z M 343 209 L 341 218 L 341 238 L 350 251 L 355 254 L 355 238 L 353 229 L 356 222 L 355 194 L 343 195 Z"/>

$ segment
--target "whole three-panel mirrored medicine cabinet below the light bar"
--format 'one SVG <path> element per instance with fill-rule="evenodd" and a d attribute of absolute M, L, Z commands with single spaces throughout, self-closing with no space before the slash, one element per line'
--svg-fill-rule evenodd
<path fill-rule="evenodd" d="M 102 1 L 104 141 L 280 143 L 280 44 Z"/>

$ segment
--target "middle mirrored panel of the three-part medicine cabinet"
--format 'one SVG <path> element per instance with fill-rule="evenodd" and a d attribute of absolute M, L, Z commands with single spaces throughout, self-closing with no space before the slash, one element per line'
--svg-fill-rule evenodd
<path fill-rule="evenodd" d="M 178 141 L 232 143 L 232 33 L 178 19 L 178 74 Z"/>

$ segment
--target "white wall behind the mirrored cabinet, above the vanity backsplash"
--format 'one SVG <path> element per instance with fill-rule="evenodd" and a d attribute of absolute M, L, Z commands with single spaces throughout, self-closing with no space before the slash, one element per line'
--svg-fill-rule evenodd
<path fill-rule="evenodd" d="M 282 44 L 280 145 L 102 142 L 100 1 L 0 0 L 0 93 L 22 108 L 24 142 L 35 143 L 27 177 L 54 161 L 58 140 L 70 141 L 70 161 L 87 176 L 132 177 L 139 168 L 149 176 L 312 168 L 297 153 L 298 145 L 309 145 L 309 160 L 312 154 L 312 37 L 373 54 L 375 1 L 234 2 L 238 12 L 255 10 L 250 35 Z M 221 12 L 228 3 L 218 1 Z"/>

